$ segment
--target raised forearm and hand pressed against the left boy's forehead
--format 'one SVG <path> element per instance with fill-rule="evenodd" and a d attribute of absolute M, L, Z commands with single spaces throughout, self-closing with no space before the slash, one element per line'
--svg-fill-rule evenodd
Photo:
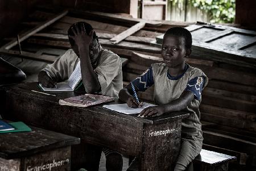
<path fill-rule="evenodd" d="M 93 30 L 89 35 L 86 34 L 84 27 L 76 26 L 72 28 L 73 39 L 79 47 L 80 65 L 82 74 L 82 83 L 84 84 L 86 93 L 97 92 L 101 89 L 97 74 L 94 72 L 89 57 L 89 44 L 93 40 Z"/>

